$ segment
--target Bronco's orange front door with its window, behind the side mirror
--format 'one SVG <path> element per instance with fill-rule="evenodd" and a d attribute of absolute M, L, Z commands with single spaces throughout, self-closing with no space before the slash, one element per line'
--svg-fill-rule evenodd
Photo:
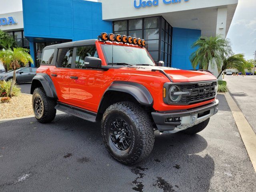
<path fill-rule="evenodd" d="M 95 45 L 74 48 L 76 60 L 70 70 L 70 103 L 97 112 L 103 70 L 84 67 L 86 56 L 98 57 Z"/>

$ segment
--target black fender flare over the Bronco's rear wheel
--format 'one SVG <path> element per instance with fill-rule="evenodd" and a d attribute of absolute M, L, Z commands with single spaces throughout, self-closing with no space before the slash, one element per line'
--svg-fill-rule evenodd
<path fill-rule="evenodd" d="M 34 92 L 34 85 L 36 84 L 36 81 L 39 81 L 42 84 L 46 96 L 58 100 L 58 96 L 52 79 L 48 74 L 45 73 L 37 73 L 36 76 L 34 76 L 34 78 L 32 79 L 30 94 L 33 94 Z"/>

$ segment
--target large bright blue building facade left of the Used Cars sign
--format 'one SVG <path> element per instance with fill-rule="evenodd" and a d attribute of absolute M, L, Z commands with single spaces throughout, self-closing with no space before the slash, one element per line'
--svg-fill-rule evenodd
<path fill-rule="evenodd" d="M 98 2 L 22 0 L 22 5 L 24 36 L 30 41 L 33 58 L 34 42 L 92 39 L 101 32 L 112 32 L 112 21 L 102 20 Z"/>

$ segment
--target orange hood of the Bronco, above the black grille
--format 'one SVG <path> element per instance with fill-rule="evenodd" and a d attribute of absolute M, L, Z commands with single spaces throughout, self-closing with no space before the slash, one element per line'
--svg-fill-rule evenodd
<path fill-rule="evenodd" d="M 202 71 L 189 71 L 180 70 L 171 67 L 160 67 L 160 66 L 136 66 L 139 70 L 163 70 L 173 82 L 194 82 L 194 81 L 207 81 L 216 80 L 216 77 L 209 72 Z M 153 72 L 152 72 L 153 73 Z"/>

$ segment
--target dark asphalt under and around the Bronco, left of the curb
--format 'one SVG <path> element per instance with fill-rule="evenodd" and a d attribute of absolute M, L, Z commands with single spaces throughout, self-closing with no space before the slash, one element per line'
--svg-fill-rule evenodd
<path fill-rule="evenodd" d="M 150 156 L 122 165 L 105 150 L 98 124 L 68 114 L 0 123 L 0 191 L 255 191 L 256 174 L 223 95 L 196 134 L 156 132 Z"/>

